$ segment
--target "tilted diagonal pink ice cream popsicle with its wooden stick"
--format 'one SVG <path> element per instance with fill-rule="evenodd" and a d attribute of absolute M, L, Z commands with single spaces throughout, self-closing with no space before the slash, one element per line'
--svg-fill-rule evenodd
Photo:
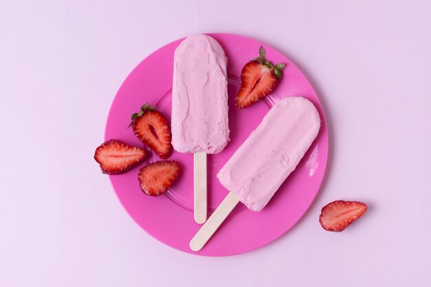
<path fill-rule="evenodd" d="M 287 97 L 276 103 L 217 174 L 229 194 L 190 242 L 199 251 L 241 201 L 261 211 L 295 170 L 320 129 L 314 105 Z"/>

